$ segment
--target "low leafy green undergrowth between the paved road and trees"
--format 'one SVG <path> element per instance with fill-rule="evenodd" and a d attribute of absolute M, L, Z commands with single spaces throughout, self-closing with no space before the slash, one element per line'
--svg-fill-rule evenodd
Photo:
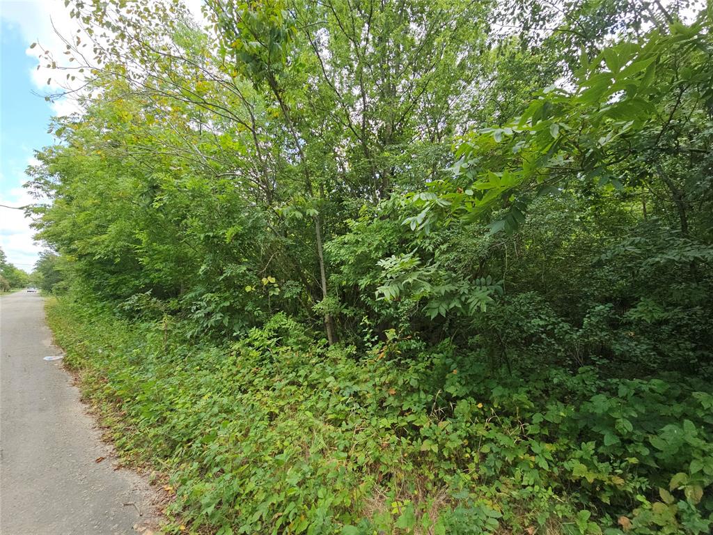
<path fill-rule="evenodd" d="M 224 347 L 71 300 L 47 315 L 120 455 L 167 475 L 170 534 L 711 525 L 702 384 L 495 377 L 478 352 L 408 340 L 357 355 L 284 315 Z M 691 439 L 671 442 L 676 426 Z"/>

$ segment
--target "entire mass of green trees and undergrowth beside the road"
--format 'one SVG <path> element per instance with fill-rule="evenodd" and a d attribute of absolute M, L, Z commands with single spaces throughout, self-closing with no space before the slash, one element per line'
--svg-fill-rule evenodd
<path fill-rule="evenodd" d="M 710 532 L 710 5 L 66 4 L 43 289 L 169 533 Z"/>

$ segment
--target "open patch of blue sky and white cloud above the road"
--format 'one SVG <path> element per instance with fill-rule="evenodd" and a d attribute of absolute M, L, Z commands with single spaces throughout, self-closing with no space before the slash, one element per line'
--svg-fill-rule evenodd
<path fill-rule="evenodd" d="M 0 3 L 0 204 L 13 206 L 31 202 L 22 189 L 27 180 L 24 171 L 34 149 L 52 143 L 47 126 L 53 115 L 51 104 L 32 93 L 39 88 L 32 76 L 37 59 L 26 54 L 31 38 L 24 35 L 21 24 L 6 16 L 6 8 L 16 11 L 18 4 L 28 3 Z M 0 208 L 0 247 L 11 263 L 26 271 L 41 250 L 29 223 L 21 211 Z"/>

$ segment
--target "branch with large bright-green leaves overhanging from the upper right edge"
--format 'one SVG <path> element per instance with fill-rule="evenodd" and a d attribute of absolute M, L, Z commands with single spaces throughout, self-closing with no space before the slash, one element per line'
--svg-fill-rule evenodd
<path fill-rule="evenodd" d="M 710 201 L 708 191 L 694 191 L 685 177 L 702 171 L 685 153 L 707 153 L 711 132 L 710 23 L 703 12 L 691 26 L 672 24 L 668 34 L 650 31 L 645 39 L 608 46 L 591 60 L 583 54 L 573 89 L 549 86 L 505 126 L 465 136 L 451 167 L 453 179 L 412 195 L 421 213 L 404 223 L 427 232 L 444 211 L 475 218 L 504 204 L 507 210 L 491 230 L 512 231 L 525 220 L 531 198 L 594 184 L 619 190 L 651 184 L 668 190 L 687 233 L 687 206 L 694 198 Z M 687 139 L 680 151 L 688 128 L 704 135 Z M 456 185 L 461 187 L 453 191 Z"/>

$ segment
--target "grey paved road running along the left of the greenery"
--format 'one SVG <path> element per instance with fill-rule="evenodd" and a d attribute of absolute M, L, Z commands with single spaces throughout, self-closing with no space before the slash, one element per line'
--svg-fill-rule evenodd
<path fill-rule="evenodd" d="M 57 353 L 42 297 L 0 297 L 0 533 L 143 531 L 153 520 L 149 486 L 114 469 L 61 361 L 43 360 Z"/>

